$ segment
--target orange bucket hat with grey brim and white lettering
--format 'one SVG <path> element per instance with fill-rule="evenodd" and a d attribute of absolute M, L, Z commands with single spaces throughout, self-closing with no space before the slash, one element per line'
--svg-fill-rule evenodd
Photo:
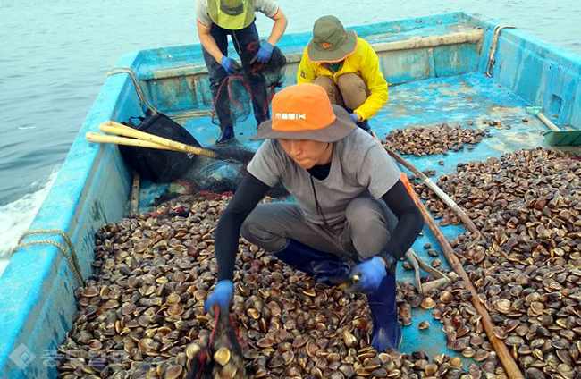
<path fill-rule="evenodd" d="M 309 139 L 335 142 L 357 125 L 345 109 L 332 105 L 323 87 L 295 84 L 273 97 L 273 118 L 258 126 L 251 139 Z"/>

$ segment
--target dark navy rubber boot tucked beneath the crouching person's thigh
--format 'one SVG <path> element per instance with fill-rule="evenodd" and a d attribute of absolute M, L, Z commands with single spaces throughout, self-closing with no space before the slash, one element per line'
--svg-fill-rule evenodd
<path fill-rule="evenodd" d="M 332 279 L 347 278 L 351 273 L 351 266 L 341 257 L 310 248 L 297 240 L 289 240 L 287 247 L 274 253 L 274 257 L 303 273 L 314 276 L 316 282 L 328 285 L 332 284 Z"/>

